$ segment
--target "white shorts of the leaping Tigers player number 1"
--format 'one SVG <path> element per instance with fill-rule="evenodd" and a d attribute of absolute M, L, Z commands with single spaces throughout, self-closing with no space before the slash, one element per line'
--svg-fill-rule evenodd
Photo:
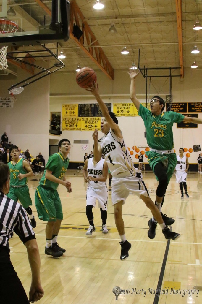
<path fill-rule="evenodd" d="M 139 172 L 139 171 L 138 171 Z M 123 178 L 113 177 L 113 188 L 111 190 L 112 206 L 120 201 L 125 203 L 129 193 L 137 195 L 139 198 L 141 195 L 149 197 L 144 181 L 135 176 L 127 176 Z"/>

